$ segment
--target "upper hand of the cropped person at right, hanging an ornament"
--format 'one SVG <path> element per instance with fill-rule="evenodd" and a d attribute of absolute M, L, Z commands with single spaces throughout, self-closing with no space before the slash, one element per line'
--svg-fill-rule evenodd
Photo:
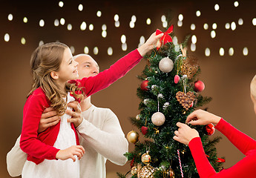
<path fill-rule="evenodd" d="M 217 125 L 220 119 L 220 116 L 216 116 L 213 113 L 197 110 L 188 115 L 186 123 L 191 125 L 209 125 L 210 123 Z"/>

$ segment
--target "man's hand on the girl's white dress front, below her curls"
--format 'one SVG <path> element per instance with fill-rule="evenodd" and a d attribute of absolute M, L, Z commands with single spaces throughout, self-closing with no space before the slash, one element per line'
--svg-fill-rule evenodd
<path fill-rule="evenodd" d="M 68 119 L 68 122 L 73 122 L 73 125 L 75 128 L 77 128 L 82 123 L 82 110 L 79 105 L 79 102 L 69 102 L 68 107 L 73 108 L 74 111 L 66 110 L 66 113 L 68 115 L 72 116 L 70 119 Z"/>

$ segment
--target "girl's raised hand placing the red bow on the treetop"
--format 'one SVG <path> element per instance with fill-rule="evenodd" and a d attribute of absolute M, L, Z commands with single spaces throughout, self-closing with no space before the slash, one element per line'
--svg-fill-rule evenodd
<path fill-rule="evenodd" d="M 152 50 L 154 47 L 160 45 L 160 38 L 163 36 L 163 33 L 156 35 L 156 32 L 152 33 L 148 40 L 138 47 L 138 51 L 141 56 L 145 56 L 148 51 Z"/>

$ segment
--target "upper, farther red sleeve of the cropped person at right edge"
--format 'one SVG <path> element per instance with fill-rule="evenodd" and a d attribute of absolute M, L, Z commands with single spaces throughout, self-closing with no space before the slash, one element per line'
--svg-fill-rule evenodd
<path fill-rule="evenodd" d="M 220 119 L 220 122 L 215 127 L 218 131 L 223 133 L 234 146 L 236 146 L 243 154 L 248 151 L 256 149 L 256 141 L 245 133 L 238 131 L 229 122 Z"/>

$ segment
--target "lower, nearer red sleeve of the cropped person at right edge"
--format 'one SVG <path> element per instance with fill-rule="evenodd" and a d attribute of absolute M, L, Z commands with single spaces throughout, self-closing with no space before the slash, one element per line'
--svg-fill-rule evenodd
<path fill-rule="evenodd" d="M 237 162 L 237 164 L 231 168 L 224 169 L 219 173 L 216 173 L 209 160 L 206 158 L 200 137 L 191 139 L 188 146 L 191 150 L 200 178 L 255 177 L 256 150 L 247 152 L 246 157 Z"/>

